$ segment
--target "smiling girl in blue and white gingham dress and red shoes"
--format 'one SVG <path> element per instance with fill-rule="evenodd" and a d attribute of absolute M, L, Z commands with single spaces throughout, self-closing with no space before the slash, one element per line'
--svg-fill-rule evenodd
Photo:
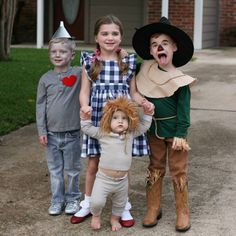
<path fill-rule="evenodd" d="M 144 110 L 154 110 L 153 105 L 143 98 L 136 90 L 134 74 L 136 69 L 136 55 L 127 55 L 119 49 L 123 28 L 120 20 L 112 15 L 100 18 L 95 23 L 94 35 L 97 49 L 94 53 L 82 52 L 83 65 L 80 104 L 82 113 L 92 113 L 94 126 L 100 125 L 102 108 L 108 99 L 115 99 L 125 95 L 132 97 Z M 134 140 L 133 156 L 148 154 L 148 144 L 145 136 Z M 95 180 L 100 147 L 96 139 L 83 135 L 82 157 L 89 157 L 85 182 L 85 199 L 81 202 L 81 209 L 72 218 L 71 223 L 84 221 L 90 213 L 90 196 Z M 121 216 L 121 225 L 131 227 L 134 219 L 129 210 L 131 204 L 127 201 Z"/>

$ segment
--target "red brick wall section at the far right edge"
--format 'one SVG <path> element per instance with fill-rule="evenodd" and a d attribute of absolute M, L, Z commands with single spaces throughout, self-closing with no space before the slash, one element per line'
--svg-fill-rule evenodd
<path fill-rule="evenodd" d="M 236 1 L 220 1 L 220 46 L 236 46 Z"/>

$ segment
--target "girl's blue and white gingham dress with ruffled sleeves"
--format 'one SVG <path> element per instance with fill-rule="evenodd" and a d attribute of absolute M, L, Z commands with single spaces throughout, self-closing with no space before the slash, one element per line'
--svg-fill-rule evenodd
<path fill-rule="evenodd" d="M 92 64 L 94 53 L 81 52 L 81 65 L 85 65 L 88 73 Z M 129 65 L 128 73 L 123 75 L 119 69 L 117 61 L 102 61 L 103 68 L 98 79 L 92 82 L 90 105 L 92 111 L 92 123 L 98 127 L 102 117 L 102 109 L 108 99 L 114 99 L 125 95 L 130 97 L 129 82 L 132 79 L 136 69 L 137 57 L 135 54 L 129 55 L 123 59 Z M 88 76 L 88 79 L 89 76 Z M 149 153 L 149 147 L 145 135 L 139 136 L 133 142 L 133 156 L 144 156 Z M 83 135 L 82 157 L 100 156 L 99 141 L 87 135 Z"/>

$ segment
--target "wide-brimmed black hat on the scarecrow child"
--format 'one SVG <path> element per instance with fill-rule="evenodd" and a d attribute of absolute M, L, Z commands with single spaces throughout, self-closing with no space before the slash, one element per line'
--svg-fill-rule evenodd
<path fill-rule="evenodd" d="M 166 17 L 162 17 L 157 23 L 145 25 L 134 33 L 132 45 L 142 59 L 153 59 L 150 54 L 150 38 L 156 33 L 169 35 L 175 41 L 177 51 L 173 55 L 173 64 L 176 67 L 191 60 L 194 52 L 192 39 L 183 30 L 171 25 Z"/>

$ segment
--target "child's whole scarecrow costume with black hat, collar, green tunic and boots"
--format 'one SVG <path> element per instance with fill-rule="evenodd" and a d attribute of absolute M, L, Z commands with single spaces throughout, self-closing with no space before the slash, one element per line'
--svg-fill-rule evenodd
<path fill-rule="evenodd" d="M 150 54 L 150 39 L 157 33 L 169 36 L 177 46 L 172 58 L 175 68 L 171 72 L 163 70 Z M 176 230 L 187 231 L 190 228 L 187 182 L 190 147 L 186 136 L 190 126 L 190 85 L 195 79 L 176 67 L 185 65 L 192 58 L 193 43 L 184 31 L 171 25 L 165 17 L 158 23 L 138 29 L 132 43 L 136 53 L 144 59 L 136 77 L 137 88 L 155 105 L 153 121 L 148 131 L 151 154 L 146 184 L 147 213 L 143 226 L 155 226 L 162 216 L 162 182 L 168 163 L 176 200 Z M 174 139 L 178 140 L 182 150 L 172 148 Z"/>

